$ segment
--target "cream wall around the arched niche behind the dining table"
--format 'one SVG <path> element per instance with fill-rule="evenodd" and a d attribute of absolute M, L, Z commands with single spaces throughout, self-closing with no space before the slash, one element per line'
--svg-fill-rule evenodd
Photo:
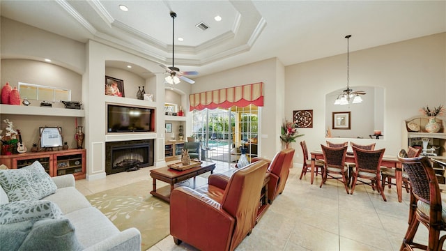
<path fill-rule="evenodd" d="M 401 149 L 401 123 L 424 105 L 446 102 L 446 33 L 350 52 L 351 86 L 385 88 L 385 139 L 376 142 L 385 155 Z M 301 128 L 309 151 L 325 144 L 325 94 L 346 86 L 346 54 L 286 66 L 286 107 L 313 109 L 314 127 Z M 267 98 L 267 97 L 266 97 Z M 344 142 L 350 139 L 330 139 Z M 295 148 L 297 147 L 294 146 Z M 302 162 L 302 159 L 294 160 Z"/>

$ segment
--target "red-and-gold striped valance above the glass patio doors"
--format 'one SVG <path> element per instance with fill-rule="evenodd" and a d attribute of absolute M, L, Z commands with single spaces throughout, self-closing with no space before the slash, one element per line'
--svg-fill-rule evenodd
<path fill-rule="evenodd" d="M 229 108 L 233 105 L 246 107 L 250 104 L 261 107 L 263 106 L 263 83 L 190 94 L 189 104 L 190 111 L 205 108 Z"/>

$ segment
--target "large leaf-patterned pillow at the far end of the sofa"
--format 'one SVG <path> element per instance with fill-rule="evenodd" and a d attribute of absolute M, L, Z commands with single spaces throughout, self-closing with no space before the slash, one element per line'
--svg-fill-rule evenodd
<path fill-rule="evenodd" d="M 42 199 L 57 190 L 56 184 L 38 161 L 20 169 L 0 170 L 0 185 L 9 201 Z"/>

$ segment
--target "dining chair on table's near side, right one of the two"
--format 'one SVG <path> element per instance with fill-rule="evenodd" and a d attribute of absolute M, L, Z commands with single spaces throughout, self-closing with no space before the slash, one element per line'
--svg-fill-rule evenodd
<path fill-rule="evenodd" d="M 353 185 L 350 194 L 353 195 L 357 182 L 370 185 L 373 190 L 377 190 L 385 198 L 383 188 L 380 185 L 380 166 L 383 160 L 385 149 L 364 150 L 353 146 L 353 155 L 355 155 L 355 167 L 353 167 Z M 360 178 L 360 179 L 358 179 Z M 369 182 L 364 181 L 369 180 Z"/>

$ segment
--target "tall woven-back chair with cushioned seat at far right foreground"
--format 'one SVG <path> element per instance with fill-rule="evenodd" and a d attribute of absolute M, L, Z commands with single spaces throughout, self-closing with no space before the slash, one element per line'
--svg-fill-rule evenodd
<path fill-rule="evenodd" d="M 410 179 L 408 229 L 400 250 L 442 250 L 446 235 L 440 237 L 440 231 L 446 230 L 446 210 L 442 207 L 440 188 L 431 162 L 426 156 L 408 158 L 404 149 L 399 151 L 398 160 Z M 429 231 L 427 245 L 414 242 L 420 222 Z"/>

